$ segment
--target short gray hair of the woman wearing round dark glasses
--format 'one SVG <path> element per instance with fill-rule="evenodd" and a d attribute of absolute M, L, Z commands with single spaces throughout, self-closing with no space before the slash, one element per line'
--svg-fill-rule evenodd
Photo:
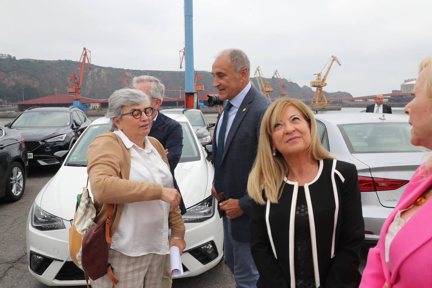
<path fill-rule="evenodd" d="M 111 96 L 109 96 L 108 111 L 107 114 L 105 114 L 105 117 L 111 122 L 111 129 L 118 130 L 117 126 L 112 122 L 112 118 L 121 120 L 123 117 L 121 116 L 123 106 L 140 105 L 144 102 L 147 106 L 150 106 L 149 96 L 141 90 L 130 88 L 115 90 Z"/>

